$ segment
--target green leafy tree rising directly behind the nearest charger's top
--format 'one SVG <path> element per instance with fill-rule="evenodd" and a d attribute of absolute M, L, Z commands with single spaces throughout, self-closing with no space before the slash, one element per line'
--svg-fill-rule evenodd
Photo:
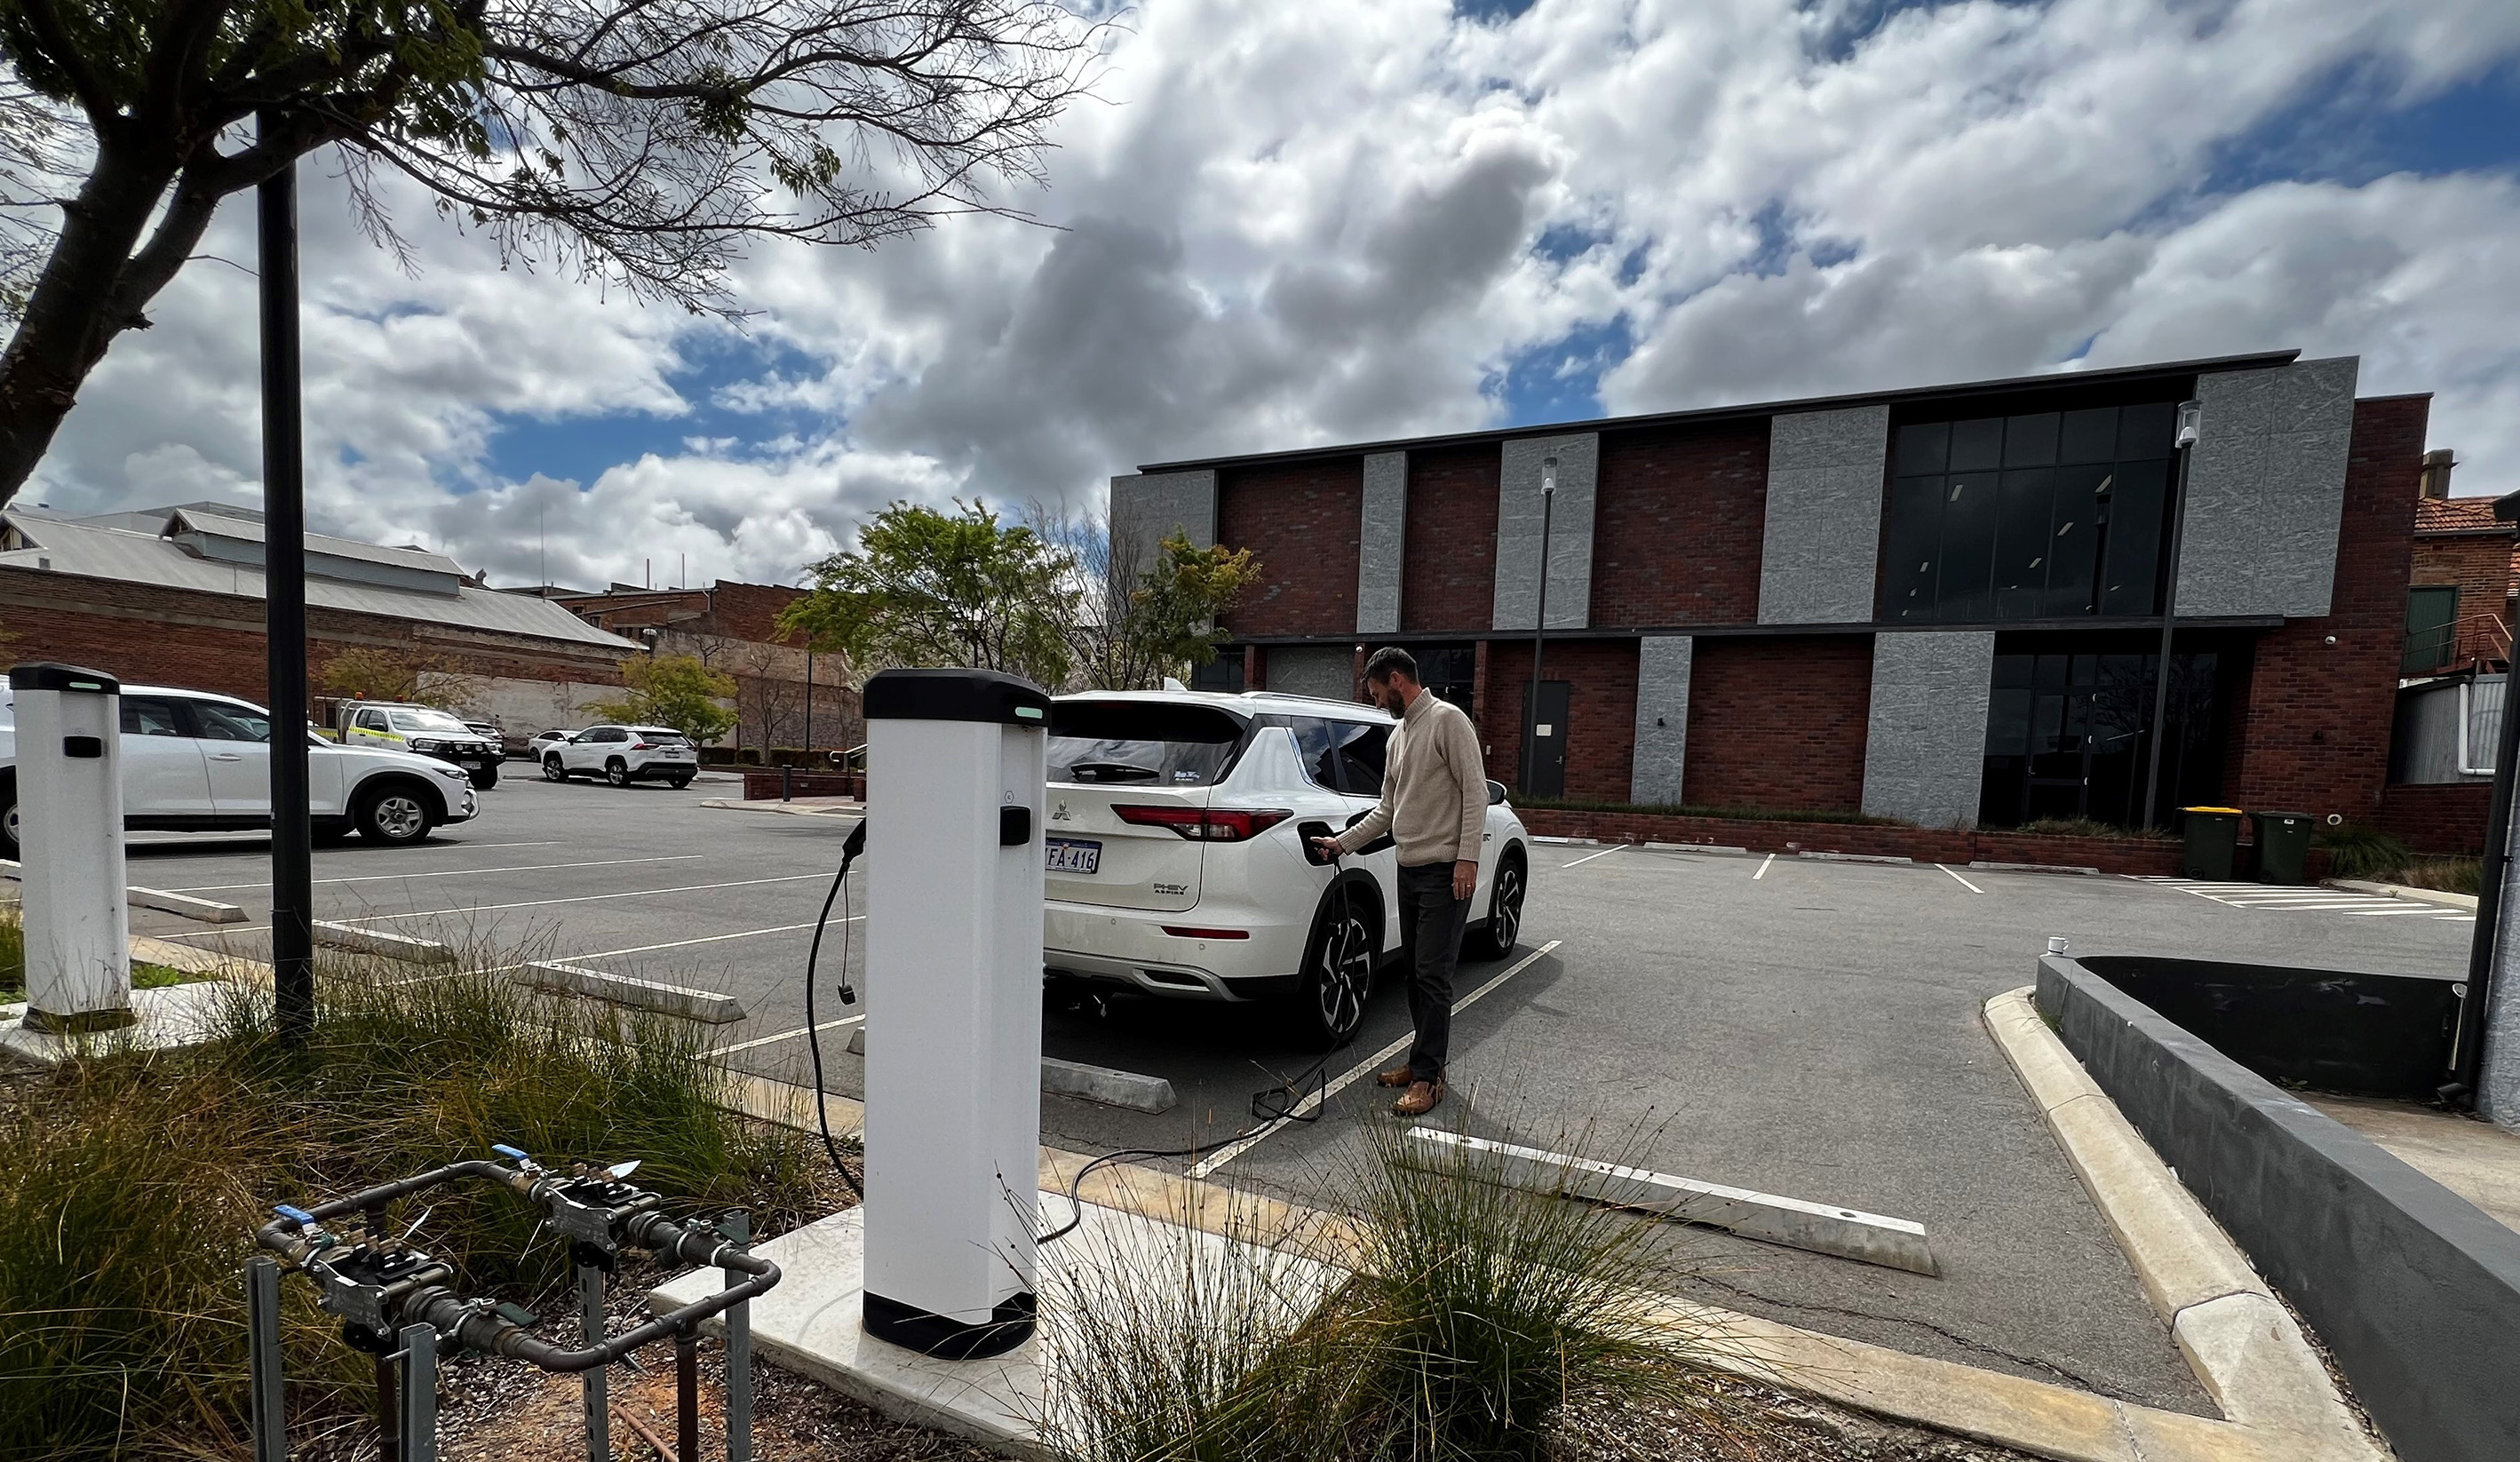
<path fill-rule="evenodd" d="M 814 590 L 779 628 L 847 650 L 859 673 L 973 665 L 1053 688 L 1068 678 L 1074 562 L 980 502 L 955 499 L 955 512 L 895 502 L 857 529 L 854 550 L 809 572 Z"/>

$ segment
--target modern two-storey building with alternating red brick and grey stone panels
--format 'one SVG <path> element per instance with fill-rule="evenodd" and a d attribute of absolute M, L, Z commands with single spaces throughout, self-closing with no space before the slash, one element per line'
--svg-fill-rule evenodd
<path fill-rule="evenodd" d="M 1111 514 L 1257 555 L 1205 686 L 1348 698 L 1409 645 L 1527 794 L 2139 822 L 2170 600 L 2160 804 L 2371 822 L 2429 398 L 2354 388 L 2286 350 L 1169 461 Z"/>

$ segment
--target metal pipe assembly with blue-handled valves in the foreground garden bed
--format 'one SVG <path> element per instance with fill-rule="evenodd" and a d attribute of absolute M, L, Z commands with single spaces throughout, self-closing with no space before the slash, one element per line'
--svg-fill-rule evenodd
<path fill-rule="evenodd" d="M 726 1454 L 751 1457 L 753 1386 L 748 1301 L 779 1283 L 779 1265 L 746 1250 L 746 1235 L 685 1225 L 658 1212 L 660 1197 L 625 1182 L 638 1162 L 612 1167 L 575 1165 L 549 1172 L 514 1147 L 494 1147 L 509 1162 L 464 1160 L 318 1202 L 275 1207 L 277 1217 L 255 1233 L 247 1260 L 255 1462 L 285 1462 L 287 1437 L 280 1396 L 280 1275 L 315 1281 L 320 1306 L 343 1323 L 343 1344 L 378 1359 L 378 1424 L 386 1457 L 436 1462 L 438 1389 L 444 1349 L 507 1356 L 542 1371 L 585 1376 L 587 1457 L 610 1462 L 605 1366 L 663 1338 L 675 1341 L 675 1414 L 680 1454 L 698 1454 L 701 1323 L 726 1316 Z M 451 1288 L 454 1265 L 393 1235 L 386 1205 L 454 1182 L 489 1182 L 544 1210 L 544 1225 L 570 1240 L 577 1263 L 580 1344 L 557 1346 L 534 1336 L 532 1313 L 514 1303 L 464 1296 Z M 335 1233 L 333 1220 L 358 1215 Z M 426 1217 L 426 1215 L 423 1215 Z M 418 1225 L 413 1225 L 416 1230 Z M 726 1288 L 617 1336 L 605 1336 L 605 1275 L 622 1248 L 650 1250 L 668 1263 L 726 1273 Z M 275 1260 L 277 1255 L 277 1260 Z"/>

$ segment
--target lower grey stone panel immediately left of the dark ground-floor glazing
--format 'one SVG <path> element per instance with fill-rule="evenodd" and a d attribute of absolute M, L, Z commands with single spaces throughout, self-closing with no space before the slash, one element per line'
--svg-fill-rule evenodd
<path fill-rule="evenodd" d="M 1918 827 L 1976 827 L 1986 771 L 1993 630 L 1872 638 L 1865 812 Z"/>

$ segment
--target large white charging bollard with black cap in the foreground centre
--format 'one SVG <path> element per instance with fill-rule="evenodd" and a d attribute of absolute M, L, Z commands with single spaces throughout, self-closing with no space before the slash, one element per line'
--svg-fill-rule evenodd
<path fill-rule="evenodd" d="M 1033 1333 L 1041 789 L 1051 698 L 995 671 L 867 681 L 867 1333 Z"/>

